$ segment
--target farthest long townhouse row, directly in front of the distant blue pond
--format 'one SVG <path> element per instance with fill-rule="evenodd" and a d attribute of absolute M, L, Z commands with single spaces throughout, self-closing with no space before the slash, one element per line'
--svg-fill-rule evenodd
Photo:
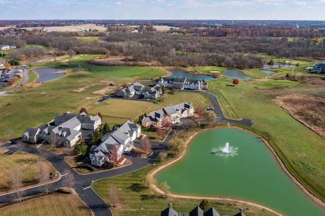
<path fill-rule="evenodd" d="M 167 78 L 161 77 L 156 84 L 160 86 L 165 86 L 166 88 L 175 88 L 175 89 L 192 89 L 192 90 L 202 90 L 208 89 L 208 83 L 204 80 L 191 80 L 185 78 Z"/>

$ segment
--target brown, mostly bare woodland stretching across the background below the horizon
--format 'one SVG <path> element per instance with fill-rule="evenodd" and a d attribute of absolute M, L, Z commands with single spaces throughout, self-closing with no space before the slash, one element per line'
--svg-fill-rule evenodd
<path fill-rule="evenodd" d="M 170 24 L 173 24 L 172 21 Z M 229 27 L 210 25 L 200 28 L 189 25 L 179 33 L 156 32 L 150 27 L 151 24 L 142 28 L 144 30 L 140 33 L 131 33 L 126 28 L 115 31 L 115 28 L 109 26 L 106 32 L 16 29 L 9 32 L 10 37 L 0 37 L 0 44 L 16 45 L 19 49 L 11 52 L 9 58 L 18 61 L 44 55 L 60 56 L 70 51 L 77 54 L 124 56 L 124 61 L 154 61 L 163 66 L 214 65 L 246 69 L 261 67 L 266 63 L 265 59 L 256 55 L 260 53 L 291 59 L 325 56 L 325 28 L 317 22 L 303 27 L 284 27 L 278 22 L 273 25 L 236 22 Z M 4 30 L 2 35 L 6 34 L 8 32 Z M 78 40 L 80 36 L 98 37 L 98 40 Z"/>

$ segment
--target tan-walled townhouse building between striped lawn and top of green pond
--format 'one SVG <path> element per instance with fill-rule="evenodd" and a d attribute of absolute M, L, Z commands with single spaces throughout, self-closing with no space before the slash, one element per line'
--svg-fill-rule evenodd
<path fill-rule="evenodd" d="M 164 118 L 167 118 L 172 124 L 180 122 L 180 119 L 194 115 L 194 106 L 192 103 L 179 103 L 176 105 L 170 104 L 160 110 L 153 111 L 143 117 L 141 124 L 144 127 L 162 127 Z"/>

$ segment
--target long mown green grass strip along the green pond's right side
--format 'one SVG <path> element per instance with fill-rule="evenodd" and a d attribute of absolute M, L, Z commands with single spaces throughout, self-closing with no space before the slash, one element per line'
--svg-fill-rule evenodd
<path fill-rule="evenodd" d="M 248 118 L 250 128 L 265 137 L 286 168 L 314 195 L 325 201 L 325 140 L 292 118 L 252 87 L 209 90 L 230 118 Z M 230 109 L 231 107 L 231 109 Z"/>

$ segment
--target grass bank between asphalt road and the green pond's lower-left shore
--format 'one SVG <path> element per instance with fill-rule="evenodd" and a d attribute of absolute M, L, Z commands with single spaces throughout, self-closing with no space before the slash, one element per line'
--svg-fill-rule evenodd
<path fill-rule="evenodd" d="M 160 211 L 167 208 L 168 203 L 173 204 L 173 208 L 176 211 L 190 212 L 194 207 L 200 204 L 202 199 L 184 199 L 174 198 L 169 196 L 164 199 L 164 195 L 158 194 L 151 189 L 147 189 L 143 186 L 143 179 L 149 173 L 150 170 L 156 168 L 158 164 L 149 165 L 138 171 L 96 181 L 92 184 L 93 189 L 99 193 L 99 195 L 107 202 L 109 188 L 112 184 L 118 188 L 118 195 L 120 202 L 117 206 L 111 207 L 113 215 L 159 215 Z M 237 203 L 234 206 L 234 202 L 224 201 L 221 204 L 220 200 L 209 200 L 209 207 L 214 207 L 218 213 L 226 215 L 234 215 L 238 213 L 239 208 L 245 209 L 246 215 L 277 215 L 270 211 L 255 206 L 248 205 L 246 203 Z M 248 208 L 249 210 L 247 210 Z"/>

